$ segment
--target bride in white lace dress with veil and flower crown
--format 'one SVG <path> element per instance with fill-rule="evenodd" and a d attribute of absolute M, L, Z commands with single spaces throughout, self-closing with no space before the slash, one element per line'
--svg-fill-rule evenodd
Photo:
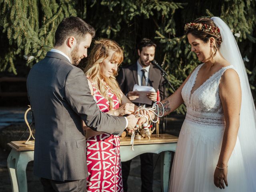
<path fill-rule="evenodd" d="M 162 101 L 164 115 L 183 102 L 187 108 L 169 191 L 256 192 L 255 106 L 236 40 L 216 17 L 185 30 L 203 64 Z"/>

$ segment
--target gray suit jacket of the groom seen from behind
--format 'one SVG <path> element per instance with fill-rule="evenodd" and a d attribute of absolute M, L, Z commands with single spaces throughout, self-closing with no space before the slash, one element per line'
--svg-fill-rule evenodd
<path fill-rule="evenodd" d="M 124 117 L 98 109 L 84 72 L 56 52 L 35 64 L 27 89 L 36 141 L 34 174 L 51 180 L 80 180 L 88 176 L 82 120 L 93 130 L 120 135 Z"/>

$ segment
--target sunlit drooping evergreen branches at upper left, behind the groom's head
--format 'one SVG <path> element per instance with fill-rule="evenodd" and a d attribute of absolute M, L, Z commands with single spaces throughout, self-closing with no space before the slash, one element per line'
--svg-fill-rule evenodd
<path fill-rule="evenodd" d="M 50 6 L 49 6 L 50 5 Z M 30 58 L 29 66 L 42 58 L 53 47 L 54 32 L 60 21 L 67 16 L 76 15 L 74 3 L 67 0 L 0 0 L 3 7 L 0 26 L 6 32 L 9 44 L 16 46 L 0 59 L 1 71 L 9 66 L 8 71 L 16 74 L 15 58 Z M 12 55 L 12 58 L 10 58 Z"/>

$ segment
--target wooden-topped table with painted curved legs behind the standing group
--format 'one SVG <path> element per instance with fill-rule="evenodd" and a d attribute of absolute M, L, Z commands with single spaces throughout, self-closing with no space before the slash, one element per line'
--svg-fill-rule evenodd
<path fill-rule="evenodd" d="M 128 161 L 143 153 L 161 154 L 161 188 L 168 191 L 170 177 L 171 151 L 176 150 L 178 137 L 169 134 L 160 134 L 159 138 L 152 135 L 151 139 L 134 140 L 134 151 L 130 150 L 130 138 L 120 138 L 121 161 Z M 34 144 L 25 145 L 25 141 L 12 141 L 8 145 L 12 148 L 7 166 L 12 182 L 12 192 L 27 192 L 26 167 L 34 160 Z"/>

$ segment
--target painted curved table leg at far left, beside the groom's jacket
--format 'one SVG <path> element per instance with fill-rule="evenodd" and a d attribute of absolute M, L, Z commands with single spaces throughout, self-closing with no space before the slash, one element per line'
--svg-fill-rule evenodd
<path fill-rule="evenodd" d="M 11 151 L 7 164 L 13 192 L 28 191 L 26 167 L 32 160 L 34 160 L 34 151 Z"/>

